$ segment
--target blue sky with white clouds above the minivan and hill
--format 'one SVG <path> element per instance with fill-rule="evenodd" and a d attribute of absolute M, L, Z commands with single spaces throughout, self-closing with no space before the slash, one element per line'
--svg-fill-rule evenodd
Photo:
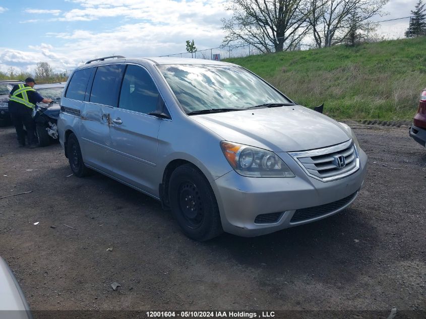
<path fill-rule="evenodd" d="M 418 0 L 390 0 L 389 14 L 410 16 Z M 0 71 L 34 72 L 38 61 L 71 71 L 102 56 L 160 56 L 218 47 L 226 0 L 0 0 Z M 382 23 L 379 32 L 403 35 L 408 20 Z M 214 53 L 214 52 L 213 52 Z"/>

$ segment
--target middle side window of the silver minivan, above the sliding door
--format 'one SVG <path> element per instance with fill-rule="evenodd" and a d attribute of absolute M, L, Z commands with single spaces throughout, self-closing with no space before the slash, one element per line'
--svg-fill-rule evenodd
<path fill-rule="evenodd" d="M 90 102 L 117 106 L 118 93 L 125 66 L 100 66 L 93 80 Z"/>

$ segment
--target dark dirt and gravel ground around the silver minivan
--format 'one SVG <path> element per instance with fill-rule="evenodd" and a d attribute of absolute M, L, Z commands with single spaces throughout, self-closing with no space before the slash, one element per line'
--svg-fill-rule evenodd
<path fill-rule="evenodd" d="M 396 307 L 396 319 L 426 317 L 426 150 L 407 127 L 352 124 L 369 167 L 350 208 L 205 243 L 136 190 L 97 173 L 68 177 L 58 144 L 18 148 L 14 128 L 2 127 L 0 197 L 32 193 L 0 200 L 0 256 L 32 310 Z"/>

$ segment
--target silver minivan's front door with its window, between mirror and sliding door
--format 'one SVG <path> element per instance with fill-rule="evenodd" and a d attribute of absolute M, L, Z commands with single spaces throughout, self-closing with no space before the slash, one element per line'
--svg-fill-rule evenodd
<path fill-rule="evenodd" d="M 128 65 L 118 107 L 110 113 L 113 175 L 149 194 L 158 193 L 155 174 L 161 119 L 148 113 L 156 110 L 159 98 L 149 73 Z"/>

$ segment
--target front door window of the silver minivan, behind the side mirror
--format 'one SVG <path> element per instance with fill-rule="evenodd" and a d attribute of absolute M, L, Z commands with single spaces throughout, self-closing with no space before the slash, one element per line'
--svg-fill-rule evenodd
<path fill-rule="evenodd" d="M 153 112 L 157 108 L 158 96 L 157 87 L 148 72 L 129 65 L 121 86 L 118 107 L 141 113 Z"/>

